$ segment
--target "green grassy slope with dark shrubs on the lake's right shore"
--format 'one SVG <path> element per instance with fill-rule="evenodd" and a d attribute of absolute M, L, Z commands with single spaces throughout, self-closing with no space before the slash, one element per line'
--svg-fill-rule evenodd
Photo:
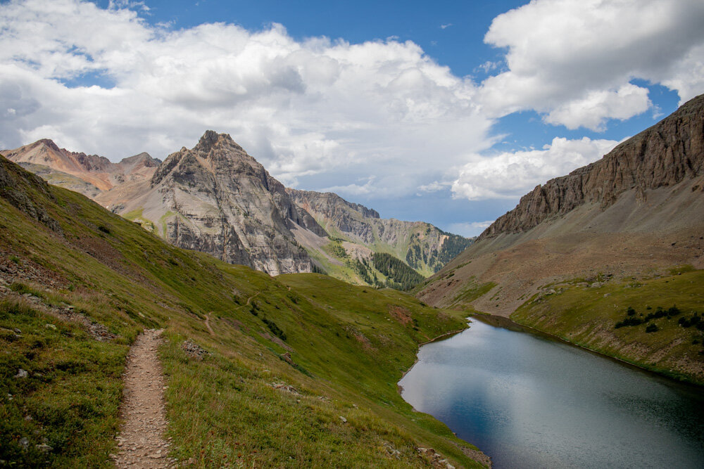
<path fill-rule="evenodd" d="M 605 280 L 605 278 L 603 279 Z M 704 384 L 704 271 L 548 285 L 511 319 L 674 378 Z M 699 319 L 702 318 L 702 319 Z"/>

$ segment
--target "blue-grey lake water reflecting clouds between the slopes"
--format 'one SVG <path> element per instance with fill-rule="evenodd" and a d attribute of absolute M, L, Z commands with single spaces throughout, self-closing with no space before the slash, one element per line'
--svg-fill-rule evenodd
<path fill-rule="evenodd" d="M 473 321 L 424 345 L 403 398 L 495 468 L 704 468 L 704 390 Z"/>

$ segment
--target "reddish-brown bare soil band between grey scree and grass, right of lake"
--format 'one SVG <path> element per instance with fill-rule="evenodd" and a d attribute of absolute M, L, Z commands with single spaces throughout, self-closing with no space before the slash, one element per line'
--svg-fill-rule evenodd
<path fill-rule="evenodd" d="M 681 264 L 701 268 L 702 259 L 700 229 L 666 234 L 570 233 L 520 240 L 508 248 L 463 259 L 465 264 L 451 278 L 432 283 L 417 296 L 428 304 L 449 307 L 467 281 L 479 285 L 491 281 L 496 287 L 472 306 L 508 317 L 543 285 L 598 274 L 615 280 L 642 278 L 665 274 Z"/>

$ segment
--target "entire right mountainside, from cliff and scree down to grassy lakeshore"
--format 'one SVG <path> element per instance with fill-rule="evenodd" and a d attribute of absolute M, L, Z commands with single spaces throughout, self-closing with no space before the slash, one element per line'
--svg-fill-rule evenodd
<path fill-rule="evenodd" d="M 702 269 L 704 95 L 524 195 L 417 296 L 704 383 Z"/>

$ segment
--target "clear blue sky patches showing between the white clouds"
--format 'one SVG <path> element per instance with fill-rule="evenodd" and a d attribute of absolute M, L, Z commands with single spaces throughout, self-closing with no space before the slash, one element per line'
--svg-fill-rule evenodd
<path fill-rule="evenodd" d="M 109 4 L 95 3 L 103 7 Z M 149 11 L 142 12 L 142 18 L 151 24 L 169 23 L 176 29 L 226 22 L 247 30 L 261 30 L 280 23 L 298 40 L 325 36 L 351 43 L 389 37 L 413 41 L 436 63 L 451 68 L 454 75 L 481 80 L 491 73 L 482 70 L 481 65 L 503 58 L 501 49 L 484 44 L 491 21 L 527 1 L 158 0 L 144 3 Z M 636 82 L 650 90 L 650 100 L 659 112 L 643 113 L 626 121 L 612 120 L 601 132 L 545 126 L 535 112 L 512 113 L 502 117 L 494 128 L 497 134 L 510 134 L 507 143 L 496 148 L 539 147 L 550 143 L 555 136 L 621 140 L 677 109 L 676 91 L 643 80 Z"/>

